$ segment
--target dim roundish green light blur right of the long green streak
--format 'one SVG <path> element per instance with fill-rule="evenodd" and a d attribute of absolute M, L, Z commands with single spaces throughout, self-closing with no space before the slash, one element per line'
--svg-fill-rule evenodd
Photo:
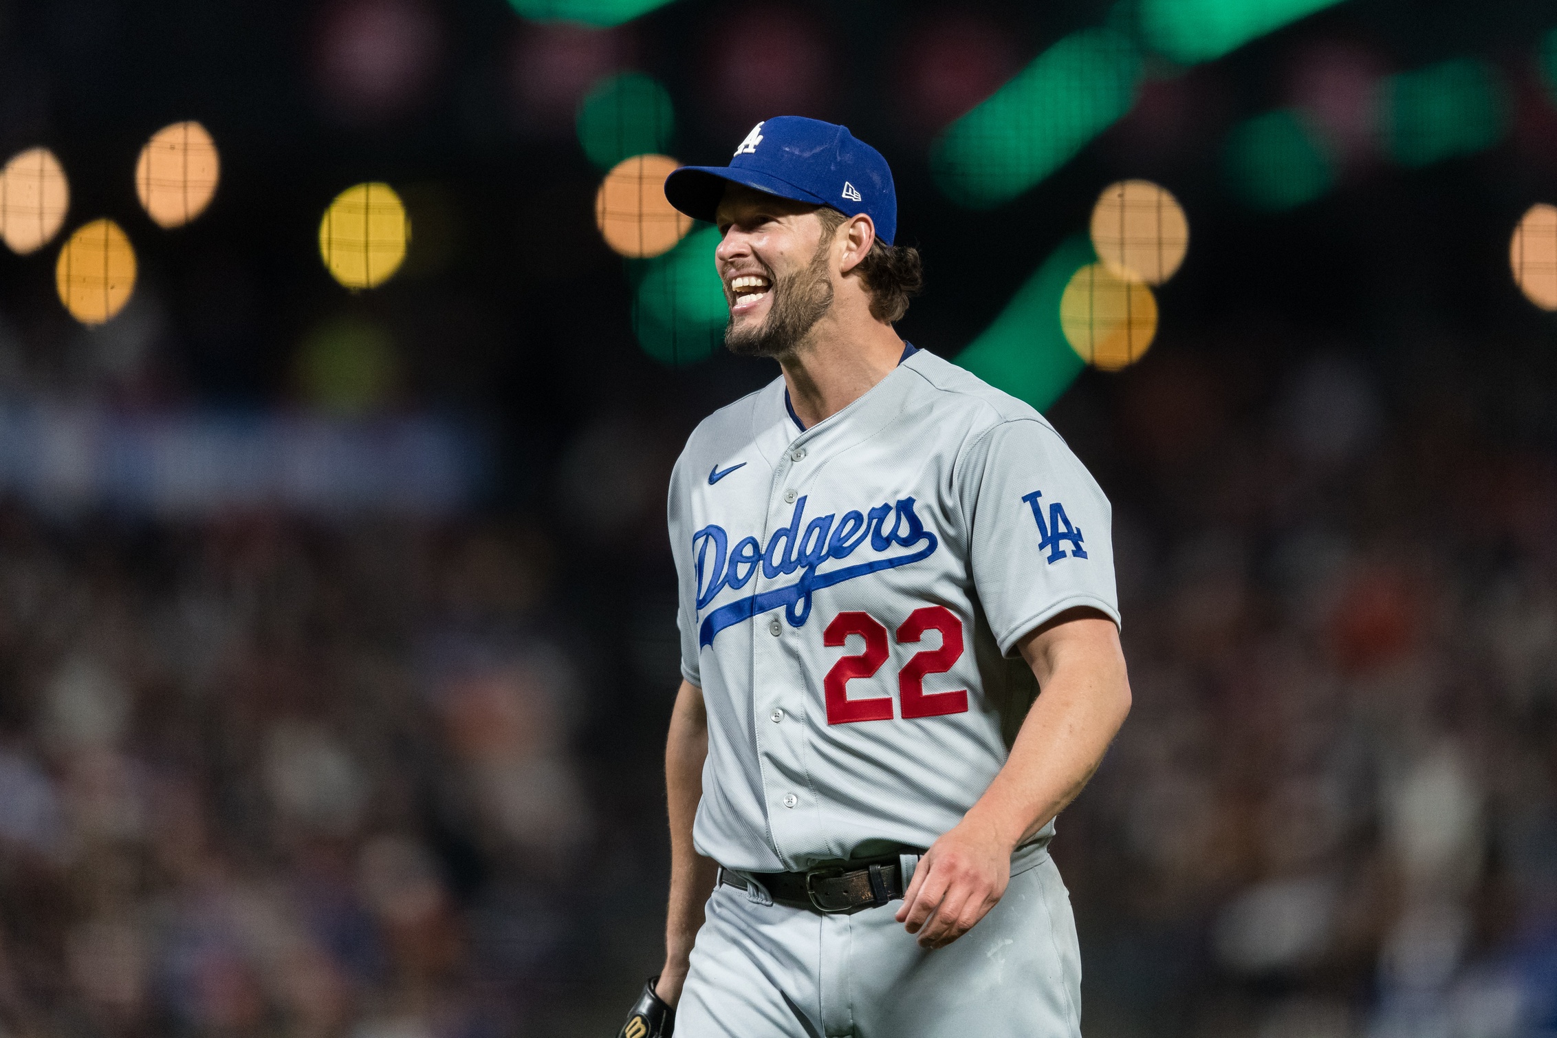
<path fill-rule="evenodd" d="M 1236 126 L 1222 159 L 1233 191 L 1253 209 L 1294 209 L 1336 182 L 1325 143 L 1292 109 L 1266 112 Z"/>

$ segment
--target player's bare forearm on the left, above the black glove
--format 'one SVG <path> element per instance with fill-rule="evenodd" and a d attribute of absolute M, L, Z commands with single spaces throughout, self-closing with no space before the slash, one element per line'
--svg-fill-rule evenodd
<path fill-rule="evenodd" d="M 708 756 L 708 716 L 702 689 L 682 682 L 665 741 L 665 794 L 671 823 L 671 890 L 665 912 L 665 968 L 659 996 L 671 1005 L 680 998 L 693 942 L 702 926 L 702 906 L 713 890 L 715 862 L 691 845 L 691 823 L 702 798 L 702 763 Z"/>

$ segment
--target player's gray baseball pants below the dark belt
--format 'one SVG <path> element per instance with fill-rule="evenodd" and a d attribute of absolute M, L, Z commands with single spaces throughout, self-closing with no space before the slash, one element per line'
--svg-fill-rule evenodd
<path fill-rule="evenodd" d="M 1081 952 L 1048 850 L 1021 848 L 989 915 L 928 951 L 894 915 L 774 904 L 718 885 L 676 1038 L 1081 1038 Z"/>

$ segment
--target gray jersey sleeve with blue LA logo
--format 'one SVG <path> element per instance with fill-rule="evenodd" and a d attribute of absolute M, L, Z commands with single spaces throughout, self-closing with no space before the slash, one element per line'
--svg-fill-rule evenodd
<path fill-rule="evenodd" d="M 1112 509 L 1065 440 L 1037 419 L 993 426 L 959 462 L 973 584 L 1006 655 L 1077 605 L 1119 622 Z"/>

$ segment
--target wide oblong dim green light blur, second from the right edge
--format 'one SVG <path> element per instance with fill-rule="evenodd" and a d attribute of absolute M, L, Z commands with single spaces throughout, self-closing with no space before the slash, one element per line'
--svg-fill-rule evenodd
<path fill-rule="evenodd" d="M 1485 151 L 1509 129 L 1509 92 L 1496 68 L 1454 58 L 1384 81 L 1384 146 L 1401 165 L 1425 167 Z"/>

